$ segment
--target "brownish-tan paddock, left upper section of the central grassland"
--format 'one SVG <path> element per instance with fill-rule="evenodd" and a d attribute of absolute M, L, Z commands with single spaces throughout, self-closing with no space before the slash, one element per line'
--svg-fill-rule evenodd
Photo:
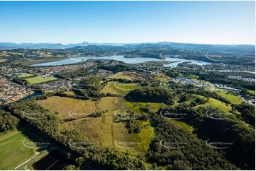
<path fill-rule="evenodd" d="M 39 105 L 50 110 L 50 112 L 57 112 L 58 116 L 62 119 L 70 117 L 70 114 L 72 117 L 85 117 L 97 110 L 94 102 L 91 102 L 91 100 L 52 96 L 45 100 L 38 100 L 37 102 Z"/>

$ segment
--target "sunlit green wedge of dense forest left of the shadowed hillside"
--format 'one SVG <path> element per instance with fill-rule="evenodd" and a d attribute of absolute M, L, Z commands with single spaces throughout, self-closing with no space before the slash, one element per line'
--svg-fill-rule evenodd
<path fill-rule="evenodd" d="M 152 114 L 151 121 L 157 137 L 150 144 L 150 162 L 168 165 L 168 170 L 238 170 L 221 151 L 209 148 L 191 132 L 157 114 Z"/>

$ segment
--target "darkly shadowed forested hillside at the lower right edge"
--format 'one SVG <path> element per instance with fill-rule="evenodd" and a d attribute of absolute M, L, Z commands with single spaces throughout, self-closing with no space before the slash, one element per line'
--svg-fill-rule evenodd
<path fill-rule="evenodd" d="M 159 110 L 159 114 L 162 111 Z M 243 124 L 236 114 L 225 114 L 211 108 L 199 107 L 195 110 L 190 105 L 182 104 L 177 107 L 164 109 L 168 112 L 186 113 L 183 121 L 194 126 L 195 133 L 205 141 L 230 142 L 233 145 L 224 152 L 226 158 L 243 170 L 255 168 L 255 129 Z M 208 117 L 211 113 L 212 119 Z M 208 115 L 207 115 L 208 114 Z M 219 119 L 218 119 L 219 118 Z"/>

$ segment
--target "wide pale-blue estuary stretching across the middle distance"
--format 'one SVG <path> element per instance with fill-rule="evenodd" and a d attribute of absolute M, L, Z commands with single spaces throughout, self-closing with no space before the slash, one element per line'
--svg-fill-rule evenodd
<path fill-rule="evenodd" d="M 187 59 L 180 59 L 180 58 L 166 58 L 166 59 L 156 59 L 156 58 L 144 58 L 144 57 L 138 57 L 138 58 L 126 58 L 123 56 L 111 56 L 111 57 L 76 57 L 76 58 L 68 58 L 63 59 L 60 61 L 51 61 L 51 62 L 45 62 L 40 64 L 33 64 L 31 66 L 60 66 L 60 65 L 66 65 L 66 64 L 76 64 L 82 61 L 87 61 L 88 59 L 111 59 L 116 61 L 123 61 L 127 64 L 138 64 L 143 63 L 145 61 L 172 61 L 171 64 L 165 64 L 164 66 L 169 67 L 176 67 L 178 64 L 181 64 L 182 62 L 190 62 L 189 64 L 197 64 L 197 65 L 208 65 L 211 63 L 205 62 L 205 61 L 196 61 L 196 60 L 187 60 Z"/>

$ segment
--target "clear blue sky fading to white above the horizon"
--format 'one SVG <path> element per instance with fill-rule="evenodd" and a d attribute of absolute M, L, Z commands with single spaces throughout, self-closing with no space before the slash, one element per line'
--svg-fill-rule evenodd
<path fill-rule="evenodd" d="M 255 44 L 254 1 L 0 1 L 0 42 Z"/>

